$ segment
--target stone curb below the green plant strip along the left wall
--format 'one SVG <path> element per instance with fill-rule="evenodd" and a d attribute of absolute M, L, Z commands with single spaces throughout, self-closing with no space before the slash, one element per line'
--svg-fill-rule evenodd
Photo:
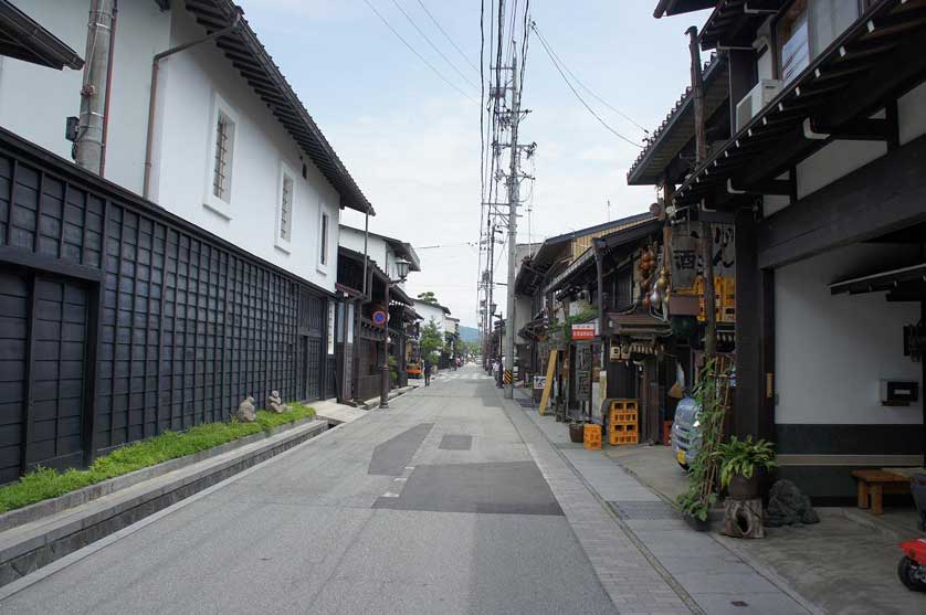
<path fill-rule="evenodd" d="M 324 434 L 328 428 L 327 421 L 308 420 L 275 435 L 254 434 L 261 435 L 256 442 L 239 445 L 231 450 L 221 453 L 211 449 L 214 454 L 199 463 L 191 460 L 197 455 L 166 462 L 154 468 L 172 462 L 187 463 L 182 467 L 167 469 L 160 476 L 148 477 L 147 480 L 136 477 L 134 485 L 88 501 L 83 505 L 83 510 L 60 510 L 50 517 L 8 530 L 0 534 L 0 586 Z"/>

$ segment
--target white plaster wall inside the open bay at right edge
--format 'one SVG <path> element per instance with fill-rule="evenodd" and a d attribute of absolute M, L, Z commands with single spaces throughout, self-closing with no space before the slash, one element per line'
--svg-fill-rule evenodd
<path fill-rule="evenodd" d="M 883 293 L 832 296 L 827 287 L 914 256 L 859 244 L 775 272 L 777 423 L 922 423 L 920 404 L 885 407 L 878 397 L 880 379 L 920 380 L 919 363 L 903 356 L 903 327 L 919 319 L 918 305 L 887 303 Z"/>

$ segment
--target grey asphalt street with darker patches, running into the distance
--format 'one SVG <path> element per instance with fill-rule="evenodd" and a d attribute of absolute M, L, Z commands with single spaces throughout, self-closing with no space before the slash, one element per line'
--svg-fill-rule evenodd
<path fill-rule="evenodd" d="M 85 550 L 0 612 L 614 612 L 491 379 L 466 368 L 391 406 Z"/>

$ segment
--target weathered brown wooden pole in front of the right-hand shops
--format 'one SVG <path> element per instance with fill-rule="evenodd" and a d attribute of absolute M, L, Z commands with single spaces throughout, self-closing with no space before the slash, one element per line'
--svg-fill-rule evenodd
<path fill-rule="evenodd" d="M 704 76 L 701 73 L 701 50 L 697 28 L 692 25 L 688 34 L 688 51 L 692 55 L 692 96 L 695 112 L 695 165 L 707 158 L 707 137 L 704 126 Z M 714 293 L 714 233 L 709 222 L 701 223 L 701 254 L 704 261 L 704 318 L 707 324 L 704 333 L 704 353 L 717 352 L 717 306 Z"/>

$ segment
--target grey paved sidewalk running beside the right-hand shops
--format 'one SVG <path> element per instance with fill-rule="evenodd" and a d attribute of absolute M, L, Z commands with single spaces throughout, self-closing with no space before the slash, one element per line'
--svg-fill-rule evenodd
<path fill-rule="evenodd" d="M 520 406 L 517 414 L 545 436 L 550 448 L 599 498 L 598 506 L 610 512 L 612 527 L 602 528 L 609 541 L 621 541 L 621 534 L 625 536 L 636 551 L 633 558 L 636 565 L 660 573 L 665 586 L 673 587 L 693 612 L 768 615 L 821 612 L 775 573 L 747 563 L 719 537 L 691 529 L 670 502 L 619 462 L 569 442 L 565 424 Z M 624 551 L 617 555 L 618 560 L 624 560 L 633 554 Z M 599 562 L 591 552 L 589 558 L 601 576 Z"/>

